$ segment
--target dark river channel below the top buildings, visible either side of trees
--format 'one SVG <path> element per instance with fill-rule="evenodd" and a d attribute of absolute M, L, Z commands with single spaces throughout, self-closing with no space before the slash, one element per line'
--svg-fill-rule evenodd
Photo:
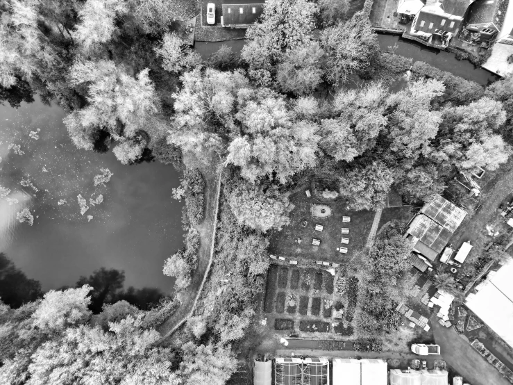
<path fill-rule="evenodd" d="M 461 76 L 464 79 L 475 81 L 480 85 L 487 85 L 498 79 L 498 76 L 488 72 L 486 69 L 476 68 L 469 60 L 456 60 L 455 54 L 450 52 L 440 51 L 439 49 L 432 49 L 423 46 L 413 40 L 406 40 L 398 35 L 385 35 L 378 33 L 378 41 L 383 51 L 388 47 L 397 44 L 396 54 L 412 58 L 414 62 L 423 61 L 442 71 L 451 72 L 456 76 Z M 239 54 L 244 46 L 244 40 L 230 40 L 228 42 L 196 42 L 194 49 L 201 54 L 203 60 L 208 59 L 210 54 L 214 53 L 226 44 L 232 47 L 235 54 Z"/>

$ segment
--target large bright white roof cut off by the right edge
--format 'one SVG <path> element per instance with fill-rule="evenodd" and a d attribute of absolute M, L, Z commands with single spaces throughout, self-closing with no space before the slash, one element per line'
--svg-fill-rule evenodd
<path fill-rule="evenodd" d="M 513 259 L 476 287 L 465 304 L 485 324 L 513 347 Z"/>

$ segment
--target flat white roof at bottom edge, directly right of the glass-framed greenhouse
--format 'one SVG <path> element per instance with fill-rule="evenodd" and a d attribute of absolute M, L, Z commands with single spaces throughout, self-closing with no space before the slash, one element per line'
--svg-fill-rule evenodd
<path fill-rule="evenodd" d="M 382 359 L 333 359 L 333 385 L 387 385 Z"/>

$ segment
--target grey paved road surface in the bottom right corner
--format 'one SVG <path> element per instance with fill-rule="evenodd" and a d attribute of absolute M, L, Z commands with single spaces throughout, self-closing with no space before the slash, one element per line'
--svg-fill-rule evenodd
<path fill-rule="evenodd" d="M 511 385 L 453 327 L 441 326 L 435 315 L 431 317 L 431 325 L 444 360 L 467 382 L 472 385 Z"/>

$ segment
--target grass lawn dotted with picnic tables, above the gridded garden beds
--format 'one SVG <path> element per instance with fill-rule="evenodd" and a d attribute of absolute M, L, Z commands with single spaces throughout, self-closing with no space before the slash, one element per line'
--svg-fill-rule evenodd
<path fill-rule="evenodd" d="M 349 261 L 354 253 L 364 248 L 374 219 L 374 211 L 349 211 L 345 201 L 328 202 L 332 215 L 326 218 L 314 218 L 310 212 L 313 198 L 308 198 L 304 191 L 292 196 L 294 210 L 290 214 L 290 224 L 281 231 L 271 233 L 269 252 L 278 256 L 303 256 L 308 259 L 343 263 Z M 395 210 L 395 209 L 390 209 Z M 386 211 L 386 210 L 385 210 Z M 342 222 L 342 216 L 351 217 L 351 222 Z M 303 227 L 303 222 L 306 226 Z M 315 225 L 323 225 L 323 231 L 316 231 Z M 349 239 L 348 245 L 342 245 L 342 227 L 349 229 L 344 238 Z M 301 243 L 296 239 L 301 238 Z M 312 245 L 312 239 L 321 240 L 319 246 Z M 340 254 L 337 247 L 344 246 L 347 254 Z M 312 277 L 312 285 L 315 283 Z"/>

